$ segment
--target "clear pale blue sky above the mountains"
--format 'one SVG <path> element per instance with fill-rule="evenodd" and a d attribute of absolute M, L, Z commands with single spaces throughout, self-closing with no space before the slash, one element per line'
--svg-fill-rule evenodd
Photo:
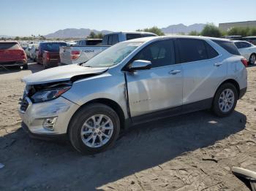
<path fill-rule="evenodd" d="M 255 0 L 0 0 L 0 35 L 64 28 L 134 31 L 184 23 L 256 20 Z"/>

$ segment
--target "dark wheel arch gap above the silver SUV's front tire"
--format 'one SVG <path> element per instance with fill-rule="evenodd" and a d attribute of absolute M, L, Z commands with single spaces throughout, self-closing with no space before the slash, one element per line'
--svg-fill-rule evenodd
<path fill-rule="evenodd" d="M 119 120 L 120 120 L 120 128 L 121 128 L 121 130 L 124 130 L 124 128 L 126 127 L 125 116 L 124 116 L 123 109 L 121 109 L 121 106 L 119 104 L 117 104 L 116 101 L 113 101 L 109 98 L 96 98 L 94 100 L 88 101 L 85 104 L 81 105 L 75 111 L 75 113 L 72 115 L 71 119 L 69 120 L 69 125 L 67 127 L 67 134 L 69 133 L 70 122 L 72 121 L 73 117 L 75 117 L 75 114 L 77 114 L 80 111 L 80 109 L 83 109 L 83 107 L 88 106 L 89 104 L 105 104 L 106 106 L 109 106 L 118 115 Z"/>

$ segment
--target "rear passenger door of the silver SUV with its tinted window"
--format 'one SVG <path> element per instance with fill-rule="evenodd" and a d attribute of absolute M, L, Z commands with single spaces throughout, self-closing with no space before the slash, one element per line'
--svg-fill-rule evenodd
<path fill-rule="evenodd" d="M 227 74 L 221 55 L 202 39 L 177 39 L 176 46 L 184 71 L 183 104 L 213 98 L 217 85 Z"/>

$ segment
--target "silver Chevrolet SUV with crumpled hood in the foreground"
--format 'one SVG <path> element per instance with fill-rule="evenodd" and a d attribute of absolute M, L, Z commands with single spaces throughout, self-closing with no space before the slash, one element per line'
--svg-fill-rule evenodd
<path fill-rule="evenodd" d="M 20 117 L 33 136 L 67 135 L 79 152 L 101 152 L 129 125 L 201 109 L 229 115 L 246 93 L 244 65 L 225 39 L 133 39 L 23 78 Z"/>

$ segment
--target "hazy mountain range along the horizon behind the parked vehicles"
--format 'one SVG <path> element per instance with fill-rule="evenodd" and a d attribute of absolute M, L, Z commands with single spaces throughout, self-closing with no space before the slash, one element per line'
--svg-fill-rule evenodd
<path fill-rule="evenodd" d="M 184 24 L 178 24 L 178 25 L 171 25 L 167 26 L 166 28 L 160 28 L 162 32 L 165 34 L 188 34 L 191 31 L 197 31 L 200 32 L 203 30 L 203 27 L 206 26 L 206 24 L 203 23 L 195 23 L 190 26 L 185 26 Z M 86 36 L 89 36 L 89 34 L 93 31 L 95 34 L 108 34 L 111 31 L 103 30 L 103 31 L 97 31 L 90 28 L 66 28 L 63 30 L 59 30 L 56 32 L 53 32 L 51 34 L 45 35 L 47 39 L 65 39 L 65 38 L 86 38 Z M 5 35 L 0 35 L 0 37 L 7 37 Z"/>

